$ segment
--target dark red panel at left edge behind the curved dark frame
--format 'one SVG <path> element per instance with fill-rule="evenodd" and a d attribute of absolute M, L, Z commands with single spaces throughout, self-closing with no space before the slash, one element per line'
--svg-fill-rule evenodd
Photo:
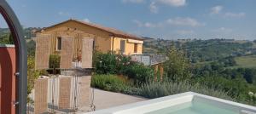
<path fill-rule="evenodd" d="M 0 114 L 15 114 L 15 48 L 0 47 Z"/>

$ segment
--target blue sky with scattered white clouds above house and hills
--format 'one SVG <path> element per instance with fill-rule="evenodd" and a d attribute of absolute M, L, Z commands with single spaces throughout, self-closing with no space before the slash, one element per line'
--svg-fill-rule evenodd
<path fill-rule="evenodd" d="M 256 0 L 7 0 L 24 27 L 76 19 L 140 37 L 256 39 Z"/>

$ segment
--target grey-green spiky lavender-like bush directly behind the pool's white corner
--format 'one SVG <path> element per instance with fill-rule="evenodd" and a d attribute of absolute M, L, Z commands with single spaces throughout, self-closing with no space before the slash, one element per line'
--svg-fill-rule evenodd
<path fill-rule="evenodd" d="M 214 97 L 218 97 L 225 100 L 233 100 L 236 99 L 231 98 L 227 92 L 214 89 L 207 88 L 204 85 L 195 84 L 192 85 L 186 82 L 180 83 L 172 83 L 172 82 L 152 82 L 152 83 L 144 83 L 141 88 L 138 88 L 137 94 L 146 98 L 159 98 L 172 94 L 180 94 L 184 92 L 193 91 L 200 94 L 207 94 Z"/>

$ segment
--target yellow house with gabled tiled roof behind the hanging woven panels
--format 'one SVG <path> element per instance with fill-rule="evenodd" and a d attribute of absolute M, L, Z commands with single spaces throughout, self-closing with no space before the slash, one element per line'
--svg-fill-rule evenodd
<path fill-rule="evenodd" d="M 82 38 L 93 38 L 93 47 L 103 53 L 113 51 L 121 54 L 142 54 L 143 38 L 113 28 L 99 26 L 80 20 L 67 20 L 43 28 L 36 32 L 37 37 L 49 35 L 50 54 L 60 54 L 61 37 L 72 37 L 76 46 L 75 54 L 79 56 Z"/>

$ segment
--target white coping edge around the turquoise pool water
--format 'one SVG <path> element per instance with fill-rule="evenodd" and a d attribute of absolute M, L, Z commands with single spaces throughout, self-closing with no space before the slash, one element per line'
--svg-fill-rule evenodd
<path fill-rule="evenodd" d="M 103 109 L 99 111 L 91 111 L 85 114 L 130 114 L 136 111 L 137 114 L 143 114 L 150 111 L 156 111 L 162 108 L 166 108 L 172 105 L 178 105 L 186 102 L 191 102 L 194 97 L 201 98 L 203 100 L 212 100 L 213 102 L 218 102 L 224 105 L 230 105 L 238 107 L 241 110 L 241 114 L 255 114 L 256 107 L 251 105 L 244 105 L 241 103 L 236 103 L 230 100 L 223 100 L 212 96 L 207 96 L 204 94 L 197 94 L 194 92 L 186 92 L 183 94 L 174 94 L 166 97 L 161 97 L 153 100 L 144 100 L 137 103 L 132 103 L 128 105 L 120 105 L 113 108 Z M 247 112 L 247 113 L 244 113 Z"/>

